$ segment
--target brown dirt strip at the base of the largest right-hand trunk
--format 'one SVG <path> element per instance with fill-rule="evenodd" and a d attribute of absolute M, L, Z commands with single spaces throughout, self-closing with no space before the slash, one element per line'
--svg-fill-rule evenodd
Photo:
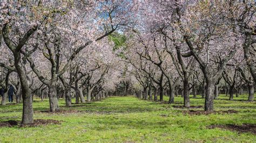
<path fill-rule="evenodd" d="M 230 114 L 230 113 L 238 113 L 238 111 L 235 110 L 226 110 L 226 111 L 197 111 L 197 110 L 188 110 L 183 111 L 184 114 L 190 114 L 190 115 L 208 115 L 208 114 Z"/>

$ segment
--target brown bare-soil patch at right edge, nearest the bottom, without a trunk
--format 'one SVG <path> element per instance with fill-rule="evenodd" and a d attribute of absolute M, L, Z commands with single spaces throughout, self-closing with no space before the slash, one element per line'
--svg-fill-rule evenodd
<path fill-rule="evenodd" d="M 256 135 L 256 124 L 242 124 L 242 125 L 210 125 L 207 128 L 222 128 L 230 131 L 237 131 L 239 133 L 252 133 Z"/>

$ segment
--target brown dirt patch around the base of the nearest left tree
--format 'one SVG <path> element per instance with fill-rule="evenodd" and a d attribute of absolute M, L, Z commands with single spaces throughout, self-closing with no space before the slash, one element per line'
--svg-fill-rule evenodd
<path fill-rule="evenodd" d="M 18 127 L 36 127 L 36 126 L 42 126 L 42 125 L 55 125 L 55 124 L 60 124 L 61 121 L 58 120 L 43 120 L 43 119 L 37 119 L 34 120 L 33 124 L 26 124 L 23 125 L 21 124 L 21 121 L 16 121 L 16 120 L 9 120 L 9 121 L 2 121 L 0 122 L 0 127 L 13 127 L 13 126 L 18 126 Z"/>

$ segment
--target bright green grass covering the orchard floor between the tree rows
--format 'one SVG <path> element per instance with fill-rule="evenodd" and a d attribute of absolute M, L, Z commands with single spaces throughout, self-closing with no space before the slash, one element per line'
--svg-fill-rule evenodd
<path fill-rule="evenodd" d="M 165 97 L 165 100 L 168 98 Z M 188 115 L 169 104 L 139 100 L 134 97 L 111 97 L 102 101 L 74 105 L 62 110 L 75 113 L 46 113 L 48 100 L 33 103 L 35 119 L 62 120 L 60 125 L 39 127 L 0 127 L 0 142 L 253 142 L 256 135 L 237 133 L 212 124 L 256 124 L 256 103 L 247 96 L 234 101 L 221 96 L 215 100 L 215 110 L 237 110 L 234 114 Z M 175 99 L 182 105 L 182 98 Z M 192 99 L 191 105 L 204 105 L 204 99 Z M 203 108 L 193 109 L 203 110 Z M 0 121 L 21 120 L 22 104 L 0 106 Z"/>

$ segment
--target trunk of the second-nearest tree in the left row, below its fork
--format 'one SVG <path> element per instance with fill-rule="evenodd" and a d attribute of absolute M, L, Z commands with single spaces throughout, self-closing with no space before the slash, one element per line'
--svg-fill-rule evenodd
<path fill-rule="evenodd" d="M 50 101 L 50 111 L 55 112 L 59 111 L 58 98 L 57 98 L 57 90 L 55 82 L 52 82 L 49 88 L 49 101 Z"/>

